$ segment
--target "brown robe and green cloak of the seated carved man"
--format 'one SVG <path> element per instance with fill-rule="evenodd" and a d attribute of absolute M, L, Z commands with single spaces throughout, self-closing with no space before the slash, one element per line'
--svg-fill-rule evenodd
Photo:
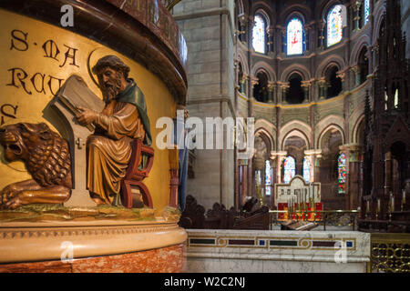
<path fill-rule="evenodd" d="M 140 138 L 151 145 L 144 95 L 134 80 L 97 114 L 96 131 L 87 139 L 87 188 L 93 196 L 112 205 L 127 172 L 131 143 Z"/>

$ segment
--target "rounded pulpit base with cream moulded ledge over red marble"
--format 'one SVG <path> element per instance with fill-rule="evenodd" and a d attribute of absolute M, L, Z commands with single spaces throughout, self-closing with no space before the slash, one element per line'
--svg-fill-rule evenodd
<path fill-rule="evenodd" d="M 187 233 L 176 223 L 2 223 L 0 237 L 0 273 L 174 273 L 186 266 Z"/>

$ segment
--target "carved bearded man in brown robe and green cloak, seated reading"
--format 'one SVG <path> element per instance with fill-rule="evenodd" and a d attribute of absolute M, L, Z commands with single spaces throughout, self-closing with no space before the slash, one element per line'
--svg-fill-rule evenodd
<path fill-rule="evenodd" d="M 104 97 L 102 112 L 79 107 L 80 125 L 94 124 L 87 139 L 87 189 L 97 205 L 119 205 L 120 182 L 131 157 L 131 142 L 140 138 L 151 145 L 145 98 L 129 67 L 117 56 L 106 55 L 92 69 Z"/>

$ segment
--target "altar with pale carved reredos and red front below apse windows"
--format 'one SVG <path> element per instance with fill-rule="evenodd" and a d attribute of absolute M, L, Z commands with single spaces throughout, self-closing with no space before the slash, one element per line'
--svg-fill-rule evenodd
<path fill-rule="evenodd" d="M 275 206 L 280 213 L 278 220 L 318 220 L 318 211 L 323 210 L 321 202 L 321 183 L 306 183 L 302 176 L 296 175 L 289 183 L 277 183 L 274 186 Z"/>

